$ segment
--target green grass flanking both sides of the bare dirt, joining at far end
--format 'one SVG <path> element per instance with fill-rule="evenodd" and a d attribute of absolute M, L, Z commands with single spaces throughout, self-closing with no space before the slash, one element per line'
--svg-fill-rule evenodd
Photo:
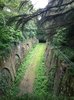
<path fill-rule="evenodd" d="M 38 51 L 39 49 L 39 52 Z M 36 59 L 33 59 L 33 56 L 36 55 L 36 52 L 38 53 Z M 11 98 L 13 100 L 13 98 L 17 97 L 17 94 L 19 93 L 19 84 L 20 81 L 23 79 L 23 76 L 25 74 L 25 71 L 28 69 L 29 65 L 31 62 L 36 63 L 36 83 L 35 83 L 35 93 L 32 95 L 26 94 L 23 97 L 19 97 L 19 98 L 27 98 L 31 96 L 31 98 L 35 97 L 35 98 L 40 98 L 39 95 L 41 94 L 41 96 L 43 96 L 44 94 L 47 94 L 47 76 L 45 75 L 46 72 L 46 68 L 45 68 L 45 64 L 44 64 L 44 52 L 45 52 L 45 45 L 44 44 L 38 44 L 35 48 L 32 48 L 32 50 L 29 52 L 29 54 L 27 55 L 26 58 L 24 58 L 23 63 L 20 65 L 18 71 L 17 71 L 17 75 L 16 75 L 16 79 L 11 87 L 11 89 L 7 90 L 6 96 L 4 96 L 3 98 L 5 100 L 9 100 L 8 98 Z M 33 62 L 33 63 L 34 63 Z M 38 64 L 38 65 L 37 65 Z M 39 78 L 39 79 L 38 79 Z M 41 87 L 38 87 L 38 84 L 42 84 Z M 42 89 L 41 89 L 42 88 Z M 39 94 L 38 94 L 39 92 Z M 45 96 L 44 95 L 44 96 Z M 28 99 L 28 98 L 27 98 Z"/>

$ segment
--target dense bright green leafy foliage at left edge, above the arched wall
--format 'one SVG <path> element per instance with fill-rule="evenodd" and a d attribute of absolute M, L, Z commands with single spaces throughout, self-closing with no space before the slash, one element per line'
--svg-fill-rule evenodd
<path fill-rule="evenodd" d="M 14 42 L 19 42 L 23 39 L 20 31 L 15 31 L 13 27 L 0 26 L 0 56 L 7 55 Z"/>

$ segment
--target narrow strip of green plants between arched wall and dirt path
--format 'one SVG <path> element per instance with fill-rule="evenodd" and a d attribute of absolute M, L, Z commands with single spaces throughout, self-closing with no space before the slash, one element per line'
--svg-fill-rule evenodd
<path fill-rule="evenodd" d="M 30 59 L 32 59 L 32 56 L 33 56 L 33 53 L 35 52 L 35 49 L 36 48 L 32 48 L 31 51 L 26 56 L 26 58 L 23 59 L 23 63 L 20 65 L 19 69 L 17 70 L 16 79 L 13 82 L 12 87 L 9 89 L 7 88 L 6 94 L 5 94 L 5 96 L 0 98 L 1 100 L 2 99 L 10 100 L 10 98 L 12 100 L 14 100 L 14 98 L 16 97 L 16 95 L 19 92 L 18 85 L 23 78 L 23 75 L 27 69 L 28 63 L 30 63 Z"/>

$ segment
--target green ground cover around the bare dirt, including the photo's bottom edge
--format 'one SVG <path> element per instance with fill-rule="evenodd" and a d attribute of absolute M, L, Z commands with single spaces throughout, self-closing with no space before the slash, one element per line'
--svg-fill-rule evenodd
<path fill-rule="evenodd" d="M 39 50 L 39 51 L 38 51 Z M 53 96 L 53 92 L 51 88 L 53 79 L 53 75 L 50 73 L 50 78 L 46 75 L 47 68 L 45 67 L 45 45 L 38 44 L 35 48 L 29 52 L 26 58 L 23 59 L 23 63 L 20 65 L 16 79 L 10 89 L 7 91 L 6 96 L 0 98 L 0 100 L 74 100 L 74 98 L 67 98 L 62 96 Z M 34 56 L 36 55 L 36 59 L 34 60 Z M 19 92 L 18 85 L 20 81 L 23 79 L 26 69 L 29 67 L 28 65 L 35 61 L 36 65 L 36 78 L 34 83 L 34 92 L 33 94 L 25 94 L 21 97 L 17 97 Z M 50 81 L 50 82 L 49 82 Z M 51 87 L 51 88 L 50 88 Z"/>

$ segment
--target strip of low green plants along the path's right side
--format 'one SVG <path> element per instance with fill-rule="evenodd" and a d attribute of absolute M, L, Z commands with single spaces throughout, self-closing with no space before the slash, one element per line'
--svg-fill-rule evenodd
<path fill-rule="evenodd" d="M 42 56 L 39 65 L 37 65 L 34 86 L 35 95 L 42 98 L 45 98 L 48 95 L 48 77 L 46 73 L 47 70 L 45 67 L 44 57 Z"/>

